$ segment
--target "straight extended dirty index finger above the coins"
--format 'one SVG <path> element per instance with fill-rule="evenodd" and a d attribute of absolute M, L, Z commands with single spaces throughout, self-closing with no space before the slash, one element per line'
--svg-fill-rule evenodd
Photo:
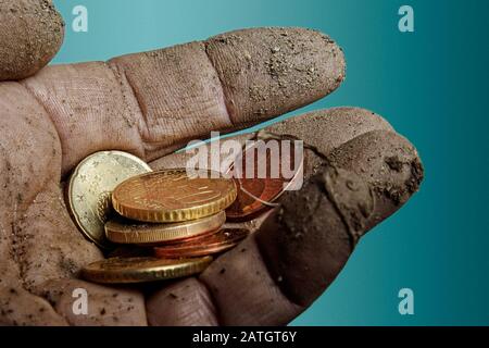
<path fill-rule="evenodd" d="M 344 77 L 340 48 L 302 28 L 254 28 L 152 52 L 48 66 L 23 82 L 51 116 L 63 173 L 109 149 L 154 160 L 303 107 Z"/>

